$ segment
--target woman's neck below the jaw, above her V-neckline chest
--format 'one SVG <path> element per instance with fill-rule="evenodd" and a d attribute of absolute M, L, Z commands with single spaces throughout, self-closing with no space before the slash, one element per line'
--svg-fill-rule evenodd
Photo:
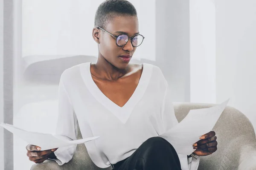
<path fill-rule="evenodd" d="M 97 77 L 101 79 L 108 79 L 108 80 L 117 80 L 123 77 L 125 74 L 127 74 L 129 70 L 130 70 L 129 67 L 125 69 L 116 68 L 110 62 L 108 62 L 104 57 L 100 57 L 100 56 L 93 67 L 93 71 L 96 73 Z"/>

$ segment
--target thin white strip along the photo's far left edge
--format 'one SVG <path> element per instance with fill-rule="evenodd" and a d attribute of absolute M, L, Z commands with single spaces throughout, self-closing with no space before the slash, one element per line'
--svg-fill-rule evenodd
<path fill-rule="evenodd" d="M 0 0 L 0 122 L 3 122 L 3 0 Z M 3 128 L 0 127 L 0 170 L 3 170 Z"/>

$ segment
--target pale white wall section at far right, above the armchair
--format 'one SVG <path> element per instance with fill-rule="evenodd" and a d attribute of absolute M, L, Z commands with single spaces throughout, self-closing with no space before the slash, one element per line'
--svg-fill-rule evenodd
<path fill-rule="evenodd" d="M 217 102 L 242 111 L 256 127 L 256 1 L 216 0 Z"/>

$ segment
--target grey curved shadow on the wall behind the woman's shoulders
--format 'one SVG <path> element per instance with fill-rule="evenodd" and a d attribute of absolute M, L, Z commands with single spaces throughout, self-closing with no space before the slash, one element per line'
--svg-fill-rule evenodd
<path fill-rule="evenodd" d="M 96 62 L 97 57 L 92 56 L 71 56 L 71 57 L 63 57 L 58 59 L 49 59 L 42 60 L 42 57 L 36 56 L 28 56 L 23 57 L 24 63 L 24 71 L 23 71 L 23 80 L 26 82 L 36 82 L 40 84 L 58 84 L 61 74 L 67 68 L 73 67 L 74 65 L 79 65 L 84 62 Z M 155 65 L 154 61 L 141 59 L 131 60 L 132 63 L 150 63 Z"/>

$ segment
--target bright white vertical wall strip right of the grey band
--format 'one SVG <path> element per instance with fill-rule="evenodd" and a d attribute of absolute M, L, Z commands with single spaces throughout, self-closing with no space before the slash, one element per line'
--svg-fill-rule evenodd
<path fill-rule="evenodd" d="M 189 0 L 190 102 L 216 102 L 215 3 Z"/>

